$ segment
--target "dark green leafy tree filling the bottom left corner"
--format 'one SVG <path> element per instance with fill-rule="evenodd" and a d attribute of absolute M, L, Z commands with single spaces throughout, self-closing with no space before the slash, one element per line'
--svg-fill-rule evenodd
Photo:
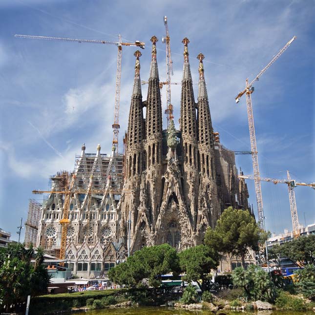
<path fill-rule="evenodd" d="M 25 249 L 24 244 L 11 243 L 0 250 L 0 305 L 5 312 L 10 305 L 24 303 L 27 295 L 36 296 L 47 291 L 50 276 L 42 265 L 41 248 Z M 35 265 L 31 259 L 35 256 Z"/>

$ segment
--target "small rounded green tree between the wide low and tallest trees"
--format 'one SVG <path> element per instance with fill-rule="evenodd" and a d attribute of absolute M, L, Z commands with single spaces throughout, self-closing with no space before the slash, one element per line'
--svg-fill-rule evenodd
<path fill-rule="evenodd" d="M 219 264 L 219 253 L 206 246 L 191 247 L 179 253 L 181 270 L 186 273 L 183 280 L 196 281 L 202 292 L 210 289 L 210 269 L 215 269 Z"/>

